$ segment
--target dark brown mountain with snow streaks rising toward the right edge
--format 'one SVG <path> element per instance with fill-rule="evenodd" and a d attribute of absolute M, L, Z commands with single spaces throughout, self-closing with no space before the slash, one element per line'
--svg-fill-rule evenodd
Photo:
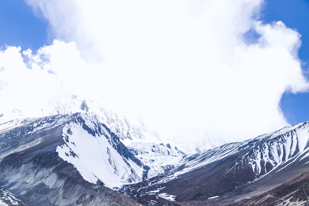
<path fill-rule="evenodd" d="M 246 192 L 265 192 L 309 170 L 308 140 L 309 122 L 285 127 L 244 142 L 187 155 L 168 173 L 124 186 L 123 191 L 142 204 L 176 201 L 180 205 L 205 205 L 211 200 L 209 205 L 232 205 L 231 191 L 238 192 L 240 201 L 246 198 Z M 212 200 L 224 195 L 225 199 Z"/>

